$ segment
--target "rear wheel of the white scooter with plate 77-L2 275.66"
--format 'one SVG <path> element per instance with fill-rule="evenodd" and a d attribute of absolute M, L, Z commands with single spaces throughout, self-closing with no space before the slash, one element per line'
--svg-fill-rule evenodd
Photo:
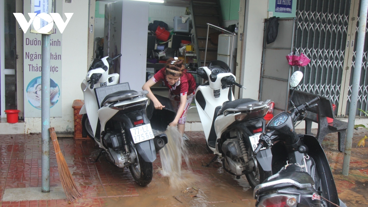
<path fill-rule="evenodd" d="M 153 166 L 152 162 L 146 162 L 141 157 L 139 153 L 137 153 L 137 164 L 132 164 L 129 166 L 130 173 L 140 186 L 146 186 L 152 181 L 153 176 Z"/>

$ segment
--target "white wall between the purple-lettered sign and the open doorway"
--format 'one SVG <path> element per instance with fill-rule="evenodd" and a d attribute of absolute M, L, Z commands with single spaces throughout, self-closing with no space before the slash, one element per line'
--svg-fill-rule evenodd
<path fill-rule="evenodd" d="M 65 3 L 63 13 L 74 13 L 63 32 L 62 59 L 62 117 L 50 119 L 50 126 L 58 132 L 74 131 L 72 104 L 83 99 L 81 83 L 87 72 L 88 0 Z M 41 132 L 41 118 L 25 118 L 25 133 Z"/>

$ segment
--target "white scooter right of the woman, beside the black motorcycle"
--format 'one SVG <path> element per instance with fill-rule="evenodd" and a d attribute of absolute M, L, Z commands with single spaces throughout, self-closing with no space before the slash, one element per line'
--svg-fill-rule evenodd
<path fill-rule="evenodd" d="M 208 63 L 208 67 L 200 67 L 188 73 L 197 74 L 206 80 L 195 91 L 195 103 L 207 147 L 216 155 L 211 162 L 220 156 L 225 171 L 237 178 L 245 174 L 250 186 L 254 188 L 272 175 L 270 150 L 263 149 L 256 157 L 252 155 L 260 134 L 265 130 L 266 121 L 263 117 L 268 111 L 270 100 L 234 100 L 231 87 L 244 87 L 235 82 L 229 66 L 219 60 L 213 60 Z"/>

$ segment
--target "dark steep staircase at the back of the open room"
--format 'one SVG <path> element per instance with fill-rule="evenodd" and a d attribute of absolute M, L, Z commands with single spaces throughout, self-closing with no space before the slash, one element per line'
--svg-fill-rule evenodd
<path fill-rule="evenodd" d="M 219 31 L 209 28 L 206 63 L 204 63 L 207 23 L 223 27 L 219 0 L 190 0 L 190 11 L 193 18 L 194 43 L 198 67 L 206 66 L 211 60 L 217 60 L 217 44 Z M 211 35 L 214 34 L 214 35 Z M 212 39 L 211 39 L 212 36 Z"/>

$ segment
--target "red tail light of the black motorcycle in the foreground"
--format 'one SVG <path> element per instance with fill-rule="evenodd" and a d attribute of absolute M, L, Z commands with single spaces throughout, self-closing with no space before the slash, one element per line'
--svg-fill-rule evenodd
<path fill-rule="evenodd" d="M 296 207 L 297 196 L 289 194 L 271 194 L 261 198 L 257 207 Z"/>

